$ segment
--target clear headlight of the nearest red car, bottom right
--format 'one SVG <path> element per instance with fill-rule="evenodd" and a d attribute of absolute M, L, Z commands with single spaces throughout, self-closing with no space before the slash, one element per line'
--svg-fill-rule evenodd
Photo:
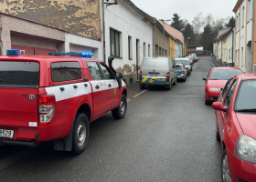
<path fill-rule="evenodd" d="M 250 136 L 240 136 L 235 149 L 235 156 L 256 164 L 256 140 Z"/>

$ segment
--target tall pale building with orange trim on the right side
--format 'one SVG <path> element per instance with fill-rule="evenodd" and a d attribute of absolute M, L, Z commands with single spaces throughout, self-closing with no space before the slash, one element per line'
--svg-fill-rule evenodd
<path fill-rule="evenodd" d="M 252 72 L 253 0 L 239 0 L 233 12 L 236 14 L 235 56 L 236 65 L 247 73 Z"/>

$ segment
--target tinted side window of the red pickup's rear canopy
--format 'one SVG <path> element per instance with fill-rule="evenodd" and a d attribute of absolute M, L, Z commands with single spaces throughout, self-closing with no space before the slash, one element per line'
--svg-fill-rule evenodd
<path fill-rule="evenodd" d="M 82 78 L 78 62 L 59 62 L 51 64 L 51 78 L 53 82 L 78 80 Z"/>

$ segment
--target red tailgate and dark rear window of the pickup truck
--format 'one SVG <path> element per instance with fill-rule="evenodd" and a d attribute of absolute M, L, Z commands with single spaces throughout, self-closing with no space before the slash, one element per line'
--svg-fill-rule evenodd
<path fill-rule="evenodd" d="M 0 60 L 0 129 L 37 126 L 38 86 L 38 63 Z"/>

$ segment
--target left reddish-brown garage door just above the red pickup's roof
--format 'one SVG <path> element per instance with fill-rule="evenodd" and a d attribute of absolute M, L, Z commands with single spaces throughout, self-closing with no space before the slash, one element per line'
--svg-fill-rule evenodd
<path fill-rule="evenodd" d="M 25 45 L 12 45 L 12 49 L 17 49 L 19 55 L 22 55 L 24 53 L 25 55 L 47 56 L 49 52 L 56 52 L 56 50 L 54 49 L 39 48 L 39 47 L 25 46 Z"/>

